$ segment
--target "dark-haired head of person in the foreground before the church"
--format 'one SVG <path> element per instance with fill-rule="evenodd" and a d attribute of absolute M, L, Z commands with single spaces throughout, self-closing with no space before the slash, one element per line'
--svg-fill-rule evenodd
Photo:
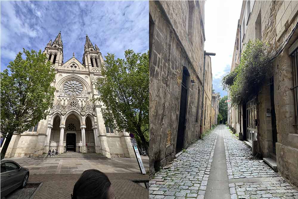
<path fill-rule="evenodd" d="M 77 180 L 72 193 L 72 199 L 114 199 L 111 182 L 103 172 L 89 169 Z"/>

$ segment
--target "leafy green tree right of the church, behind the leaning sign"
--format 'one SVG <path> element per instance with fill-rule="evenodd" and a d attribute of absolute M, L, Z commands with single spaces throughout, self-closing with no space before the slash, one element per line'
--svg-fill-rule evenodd
<path fill-rule="evenodd" d="M 125 51 L 125 59 L 105 56 L 97 89 L 106 110 L 102 110 L 105 124 L 134 133 L 148 151 L 149 147 L 149 52 Z M 116 122 L 116 123 L 115 123 Z"/>

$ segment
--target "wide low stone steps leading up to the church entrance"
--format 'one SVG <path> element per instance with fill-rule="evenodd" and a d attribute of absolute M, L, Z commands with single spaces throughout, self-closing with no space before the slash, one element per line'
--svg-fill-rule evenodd
<path fill-rule="evenodd" d="M 109 159 L 99 153 L 77 153 L 73 151 L 67 151 L 66 153 L 55 155 L 54 157 L 43 154 L 36 159 Z"/>

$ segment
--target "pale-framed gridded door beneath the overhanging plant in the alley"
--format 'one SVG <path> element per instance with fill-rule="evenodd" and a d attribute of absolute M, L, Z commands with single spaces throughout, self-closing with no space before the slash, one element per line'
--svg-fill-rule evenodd
<path fill-rule="evenodd" d="M 246 130 L 247 141 L 257 140 L 257 106 L 255 99 L 246 103 Z"/>

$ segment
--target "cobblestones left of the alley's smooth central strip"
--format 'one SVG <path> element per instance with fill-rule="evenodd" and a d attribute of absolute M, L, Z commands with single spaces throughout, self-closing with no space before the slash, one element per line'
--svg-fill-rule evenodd
<path fill-rule="evenodd" d="M 169 163 L 169 169 L 157 172 L 149 182 L 149 198 L 204 199 L 217 132 L 218 127 Z"/>

